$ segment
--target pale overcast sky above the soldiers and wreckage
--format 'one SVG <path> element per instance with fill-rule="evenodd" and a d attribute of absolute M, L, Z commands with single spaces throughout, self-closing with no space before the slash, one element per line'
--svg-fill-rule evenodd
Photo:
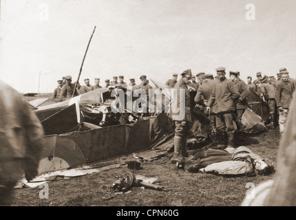
<path fill-rule="evenodd" d="M 0 79 L 23 93 L 38 91 L 40 72 L 40 92 L 65 75 L 75 81 L 94 26 L 81 84 L 120 74 L 165 83 L 219 66 L 243 80 L 281 67 L 296 78 L 296 1 L 1 0 Z"/>

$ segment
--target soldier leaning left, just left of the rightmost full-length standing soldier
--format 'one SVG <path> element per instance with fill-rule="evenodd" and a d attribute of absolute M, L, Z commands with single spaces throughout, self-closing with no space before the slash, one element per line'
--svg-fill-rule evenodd
<path fill-rule="evenodd" d="M 277 104 L 275 102 L 275 87 L 268 83 L 268 76 L 264 76 L 260 83 L 258 83 L 258 87 L 260 87 L 264 99 L 268 105 L 269 109 L 269 117 L 271 118 L 270 128 L 275 129 L 275 113 Z"/>

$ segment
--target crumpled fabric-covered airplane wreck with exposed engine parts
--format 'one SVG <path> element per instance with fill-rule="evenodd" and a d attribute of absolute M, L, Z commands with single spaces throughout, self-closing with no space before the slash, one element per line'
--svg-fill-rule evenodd
<path fill-rule="evenodd" d="M 149 96 L 149 108 L 143 101 L 145 96 L 139 96 L 145 95 L 142 91 L 125 87 L 104 87 L 36 107 L 34 111 L 45 132 L 39 173 L 92 165 L 140 151 L 156 150 L 160 155 L 170 151 L 175 131 L 173 120 L 167 116 L 173 102 L 171 89 L 152 82 L 156 85 L 152 90 L 155 99 Z M 191 92 L 192 100 L 195 94 Z M 255 113 L 247 113 L 248 118 L 254 117 Z M 207 115 L 194 107 L 189 142 L 204 142 L 210 134 Z"/>

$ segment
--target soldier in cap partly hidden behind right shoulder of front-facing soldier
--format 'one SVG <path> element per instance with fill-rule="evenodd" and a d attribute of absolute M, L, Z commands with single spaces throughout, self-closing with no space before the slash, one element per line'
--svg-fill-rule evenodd
<path fill-rule="evenodd" d="M 237 131 L 239 135 L 242 135 L 242 131 L 244 130 L 244 124 L 242 124 L 242 115 L 246 108 L 248 107 L 248 100 L 246 99 L 249 96 L 249 87 L 247 87 L 246 83 L 241 80 L 238 76 L 237 72 L 229 72 L 229 79 L 233 81 L 235 87 L 240 93 L 240 98 L 235 102 L 235 122 L 237 124 Z"/>

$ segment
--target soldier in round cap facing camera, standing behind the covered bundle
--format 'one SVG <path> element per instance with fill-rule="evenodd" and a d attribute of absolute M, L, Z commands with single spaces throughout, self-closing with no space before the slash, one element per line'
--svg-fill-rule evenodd
<path fill-rule="evenodd" d="M 216 68 L 220 80 L 215 83 L 211 98 L 207 103 L 207 110 L 212 107 L 216 114 L 216 126 L 218 135 L 218 148 L 225 148 L 229 153 L 234 152 L 235 129 L 233 126 L 233 114 L 235 113 L 235 102 L 240 98 L 240 93 L 234 83 L 225 77 L 225 67 Z M 224 138 L 226 137 L 225 144 Z"/>

